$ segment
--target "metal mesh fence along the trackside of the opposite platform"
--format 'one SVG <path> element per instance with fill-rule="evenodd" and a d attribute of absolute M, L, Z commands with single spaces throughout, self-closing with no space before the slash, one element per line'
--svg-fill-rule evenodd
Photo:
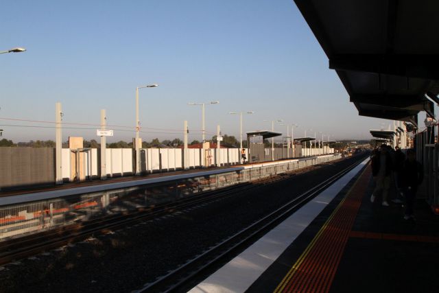
<path fill-rule="evenodd" d="M 115 215 L 156 206 L 202 191 L 258 180 L 339 158 L 338 155 L 331 155 L 286 163 L 267 163 L 210 176 L 195 176 L 153 185 L 2 206 L 0 241 L 25 233 L 91 220 L 102 215 Z"/>

